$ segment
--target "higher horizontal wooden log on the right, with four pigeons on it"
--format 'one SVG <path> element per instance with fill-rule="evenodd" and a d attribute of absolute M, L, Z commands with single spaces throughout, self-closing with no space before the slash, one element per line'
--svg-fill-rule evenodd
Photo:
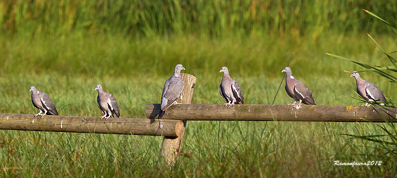
<path fill-rule="evenodd" d="M 159 104 L 146 106 L 146 118 L 156 118 Z M 260 105 L 241 104 L 230 108 L 223 104 L 175 104 L 167 109 L 163 119 L 189 121 L 306 121 L 306 122 L 385 122 L 375 111 L 390 122 L 388 113 L 397 117 L 394 112 L 383 111 L 372 106 L 337 106 L 337 105 L 302 105 L 293 108 L 292 105 Z"/>

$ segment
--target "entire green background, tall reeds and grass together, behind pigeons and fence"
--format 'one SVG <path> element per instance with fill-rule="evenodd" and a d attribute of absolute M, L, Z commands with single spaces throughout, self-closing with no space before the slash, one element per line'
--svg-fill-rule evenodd
<path fill-rule="evenodd" d="M 221 104 L 222 66 L 247 104 L 271 104 L 288 64 L 317 104 L 358 105 L 363 68 L 326 52 L 385 66 L 396 37 L 393 1 L 0 1 L 0 112 L 37 113 L 30 86 L 60 115 L 101 116 L 95 85 L 113 93 L 121 116 L 144 118 L 176 64 L 197 77 L 192 103 Z M 392 54 L 395 55 L 395 54 Z M 395 84 L 361 77 L 394 100 Z M 282 88 L 274 104 L 292 103 Z M 162 137 L 0 131 L 1 177 L 393 177 L 392 146 L 342 134 L 386 134 L 373 123 L 188 122 L 183 156 L 156 166 Z M 392 150 L 392 151 L 390 151 Z M 334 161 L 382 161 L 334 166 Z"/>

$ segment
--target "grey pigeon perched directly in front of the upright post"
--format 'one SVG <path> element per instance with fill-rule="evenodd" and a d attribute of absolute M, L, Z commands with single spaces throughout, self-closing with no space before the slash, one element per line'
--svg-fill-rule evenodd
<path fill-rule="evenodd" d="M 184 86 L 181 70 L 185 70 L 185 68 L 182 64 L 177 64 L 174 69 L 174 75 L 165 81 L 163 93 L 161 94 L 161 106 L 158 119 L 164 116 L 165 110 L 168 109 L 168 107 L 177 104 L 176 100 L 179 95 L 181 95 Z"/>

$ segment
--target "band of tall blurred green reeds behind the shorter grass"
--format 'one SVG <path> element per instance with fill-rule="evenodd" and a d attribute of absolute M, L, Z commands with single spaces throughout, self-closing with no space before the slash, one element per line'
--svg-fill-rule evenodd
<path fill-rule="evenodd" d="M 1 0 L 5 34 L 128 36 L 388 33 L 362 9 L 395 22 L 394 0 Z"/>

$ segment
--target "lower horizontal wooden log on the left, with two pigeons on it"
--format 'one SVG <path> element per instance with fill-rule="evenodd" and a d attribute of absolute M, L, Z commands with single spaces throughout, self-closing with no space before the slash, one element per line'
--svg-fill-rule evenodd
<path fill-rule="evenodd" d="M 98 134 L 179 136 L 184 130 L 180 120 L 131 119 L 80 116 L 44 116 L 0 113 L 0 129 Z"/>

